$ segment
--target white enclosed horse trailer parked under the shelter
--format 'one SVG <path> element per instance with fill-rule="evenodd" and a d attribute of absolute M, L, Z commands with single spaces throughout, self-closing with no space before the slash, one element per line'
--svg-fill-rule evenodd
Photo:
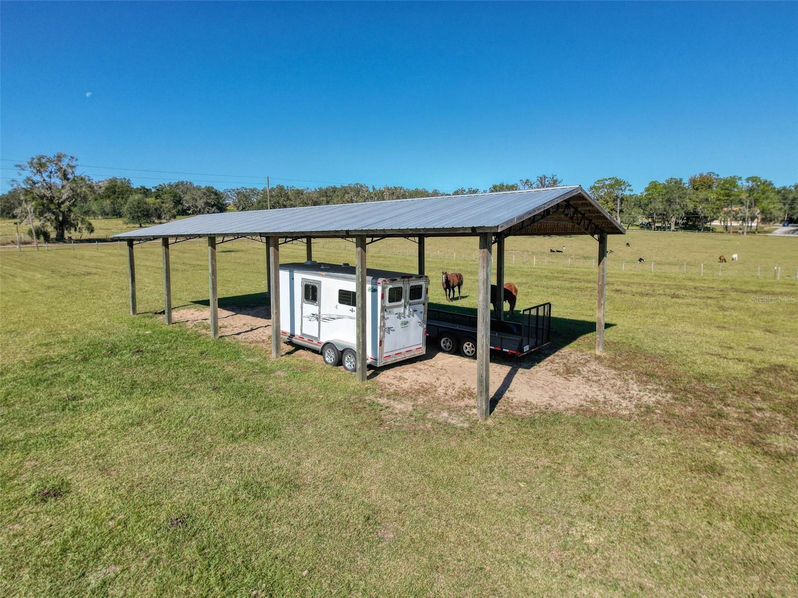
<path fill-rule="evenodd" d="M 366 363 L 379 367 L 426 351 L 429 278 L 366 269 Z M 354 372 L 355 269 L 349 264 L 280 265 L 280 336 Z"/>

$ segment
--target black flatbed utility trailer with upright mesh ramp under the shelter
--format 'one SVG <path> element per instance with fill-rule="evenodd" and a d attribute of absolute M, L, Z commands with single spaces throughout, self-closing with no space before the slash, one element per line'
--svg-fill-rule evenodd
<path fill-rule="evenodd" d="M 438 348 L 453 353 L 458 348 L 466 357 L 476 357 L 476 316 L 427 309 L 427 336 L 437 340 Z M 496 351 L 522 356 L 551 340 L 551 303 L 521 310 L 521 321 L 491 319 L 490 345 Z"/>

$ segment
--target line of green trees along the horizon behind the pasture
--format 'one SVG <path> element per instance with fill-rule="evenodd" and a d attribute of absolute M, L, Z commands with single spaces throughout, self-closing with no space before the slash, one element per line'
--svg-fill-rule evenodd
<path fill-rule="evenodd" d="M 77 172 L 74 156 L 58 153 L 36 155 L 17 165 L 22 177 L 0 195 L 0 217 L 17 218 L 28 226 L 35 240 L 65 241 L 73 235 L 93 232 L 92 218 L 123 218 L 143 226 L 184 215 L 213 214 L 225 210 L 267 210 L 282 207 L 319 206 L 409 199 L 431 195 L 466 195 L 496 191 L 520 191 L 557 187 L 556 175 L 496 183 L 488 189 L 460 187 L 451 194 L 437 189 L 400 186 L 369 187 L 362 183 L 302 188 L 235 187 L 219 190 L 189 181 L 135 187 L 130 179 L 110 177 L 93 180 Z M 618 177 L 599 179 L 588 191 L 627 228 L 645 220 L 654 228 L 705 230 L 719 221 L 726 232 L 748 232 L 760 222 L 798 221 L 798 184 L 776 187 L 767 179 L 720 176 L 702 172 L 684 179 L 651 181 L 640 193 Z"/>

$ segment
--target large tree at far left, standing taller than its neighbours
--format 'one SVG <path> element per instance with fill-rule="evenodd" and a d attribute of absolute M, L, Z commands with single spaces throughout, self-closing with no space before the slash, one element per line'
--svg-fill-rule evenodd
<path fill-rule="evenodd" d="M 89 179 L 75 174 L 75 157 L 64 153 L 53 156 L 34 155 L 26 163 L 17 164 L 25 179 L 18 185 L 26 199 L 33 200 L 34 210 L 41 222 L 55 231 L 55 241 L 62 242 L 68 230 L 85 226 L 85 216 L 76 207 L 88 201 L 91 193 Z"/>

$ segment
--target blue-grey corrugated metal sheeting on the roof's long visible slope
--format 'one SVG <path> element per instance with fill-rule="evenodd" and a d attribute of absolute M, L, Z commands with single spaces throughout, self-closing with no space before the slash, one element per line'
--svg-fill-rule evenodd
<path fill-rule="evenodd" d="M 543 209 L 560 197 L 573 195 L 576 190 L 589 198 L 581 187 L 571 186 L 477 195 L 441 195 L 385 202 L 224 212 L 203 214 L 140 230 L 131 230 L 114 235 L 114 238 L 211 234 L 302 235 L 340 231 L 348 231 L 350 234 L 471 229 L 491 231 L 500 230 L 499 226 L 518 218 L 521 214 L 534 212 L 538 207 Z"/>

